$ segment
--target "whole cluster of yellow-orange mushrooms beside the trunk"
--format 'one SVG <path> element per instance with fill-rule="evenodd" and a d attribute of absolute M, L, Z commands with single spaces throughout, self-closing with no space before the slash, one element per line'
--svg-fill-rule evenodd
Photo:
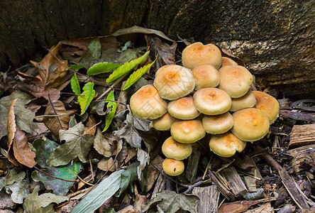
<path fill-rule="evenodd" d="M 133 114 L 153 120 L 150 126 L 170 130 L 172 136 L 162 145 L 162 168 L 173 176 L 184 171 L 182 160 L 206 133 L 211 134 L 211 151 L 231 157 L 247 141 L 263 138 L 280 110 L 277 99 L 250 89 L 253 75 L 222 57 L 216 45 L 187 46 L 182 64 L 160 67 L 154 83 L 138 89 L 130 102 Z"/>

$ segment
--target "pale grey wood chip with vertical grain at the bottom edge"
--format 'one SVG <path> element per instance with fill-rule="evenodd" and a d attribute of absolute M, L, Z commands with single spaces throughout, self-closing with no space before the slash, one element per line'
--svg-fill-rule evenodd
<path fill-rule="evenodd" d="M 217 190 L 216 185 L 194 187 L 192 195 L 197 195 L 199 197 L 197 212 L 218 212 L 220 193 Z"/>

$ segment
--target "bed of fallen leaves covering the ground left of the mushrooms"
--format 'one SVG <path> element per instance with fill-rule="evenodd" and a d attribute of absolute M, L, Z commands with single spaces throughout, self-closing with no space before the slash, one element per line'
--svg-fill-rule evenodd
<path fill-rule="evenodd" d="M 132 33 L 141 36 L 142 46 L 120 42 L 118 36 Z M 26 212 L 63 207 L 67 212 L 198 212 L 200 195 L 189 189 L 211 185 L 209 178 L 201 180 L 209 169 L 208 150 L 201 149 L 199 179 L 168 177 L 160 152 L 168 133 L 150 129 L 150 121 L 128 108 L 131 94 L 151 84 L 159 67 L 178 61 L 177 45 L 160 31 L 135 26 L 109 36 L 62 40 L 40 62 L 31 61 L 33 67 L 1 77 L 1 193 Z M 240 203 L 225 202 L 221 211 L 257 204 Z"/>

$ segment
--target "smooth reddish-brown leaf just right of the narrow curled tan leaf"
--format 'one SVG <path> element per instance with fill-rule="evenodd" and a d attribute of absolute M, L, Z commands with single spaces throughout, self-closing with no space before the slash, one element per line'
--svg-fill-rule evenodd
<path fill-rule="evenodd" d="M 34 160 L 35 153 L 33 153 L 30 146 L 28 146 L 28 138 L 25 132 L 21 131 L 18 126 L 16 127 L 16 135 L 13 139 L 13 153 L 19 163 L 29 168 L 33 168 L 33 166 L 36 165 Z"/>

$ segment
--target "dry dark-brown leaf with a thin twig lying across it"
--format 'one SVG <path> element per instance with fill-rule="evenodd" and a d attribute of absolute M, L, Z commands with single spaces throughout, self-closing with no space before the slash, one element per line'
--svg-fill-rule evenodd
<path fill-rule="evenodd" d="M 53 107 L 52 107 L 53 105 Z M 59 139 L 60 129 L 69 129 L 70 115 L 72 111 L 67 111 L 65 106 L 60 101 L 52 101 L 52 105 L 48 102 L 45 110 L 45 115 L 60 115 L 60 116 L 48 116 L 44 117 L 43 121 L 45 126 L 52 132 L 52 134 Z"/>

